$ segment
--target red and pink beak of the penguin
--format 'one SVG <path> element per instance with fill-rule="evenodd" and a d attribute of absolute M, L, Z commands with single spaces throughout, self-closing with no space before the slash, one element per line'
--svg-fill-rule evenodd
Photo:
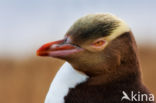
<path fill-rule="evenodd" d="M 80 52 L 82 50 L 82 48 L 76 45 L 66 43 L 63 39 L 44 44 L 37 50 L 36 54 L 38 56 L 51 56 L 56 58 L 63 58 L 70 56 L 71 54 Z"/>

